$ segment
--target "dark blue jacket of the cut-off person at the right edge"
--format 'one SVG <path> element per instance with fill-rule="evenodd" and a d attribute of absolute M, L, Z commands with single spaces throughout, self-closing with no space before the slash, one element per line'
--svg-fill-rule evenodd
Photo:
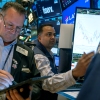
<path fill-rule="evenodd" d="M 100 100 L 100 53 L 93 57 L 76 100 Z"/>

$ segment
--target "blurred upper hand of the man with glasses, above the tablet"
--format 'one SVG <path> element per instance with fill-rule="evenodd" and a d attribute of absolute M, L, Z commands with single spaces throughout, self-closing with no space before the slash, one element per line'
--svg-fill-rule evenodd
<path fill-rule="evenodd" d="M 13 77 L 10 73 L 0 70 L 0 90 L 9 87 L 12 85 Z"/>

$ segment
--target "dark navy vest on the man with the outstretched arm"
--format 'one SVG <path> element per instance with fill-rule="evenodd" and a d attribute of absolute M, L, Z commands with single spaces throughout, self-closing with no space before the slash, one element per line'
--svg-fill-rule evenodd
<path fill-rule="evenodd" d="M 54 66 L 54 59 L 50 55 L 50 53 L 46 50 L 46 48 L 39 42 L 36 41 L 36 46 L 34 47 L 34 54 L 42 54 L 46 56 L 50 61 L 50 66 L 52 68 L 52 72 L 57 74 L 57 68 Z M 50 93 L 49 91 L 42 90 L 42 94 L 40 99 L 38 100 L 57 100 L 57 94 L 56 93 Z"/>

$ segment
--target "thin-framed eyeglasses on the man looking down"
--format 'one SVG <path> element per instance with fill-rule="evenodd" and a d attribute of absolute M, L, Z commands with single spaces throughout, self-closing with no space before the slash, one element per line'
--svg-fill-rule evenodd
<path fill-rule="evenodd" d="M 14 25 L 11 24 L 11 23 L 8 23 L 4 20 L 4 16 L 2 14 L 0 14 L 0 18 L 3 19 L 4 21 L 4 27 L 9 30 L 9 31 L 12 31 L 15 29 L 15 33 L 20 33 L 20 31 L 22 30 L 23 27 L 20 27 L 20 26 L 16 26 L 16 28 L 14 28 Z"/>

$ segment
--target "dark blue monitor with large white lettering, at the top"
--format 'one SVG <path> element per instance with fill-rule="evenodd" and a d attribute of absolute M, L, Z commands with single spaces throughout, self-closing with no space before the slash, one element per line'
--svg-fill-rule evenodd
<path fill-rule="evenodd" d="M 35 4 L 38 18 L 48 18 L 62 14 L 59 0 L 37 0 Z"/>

